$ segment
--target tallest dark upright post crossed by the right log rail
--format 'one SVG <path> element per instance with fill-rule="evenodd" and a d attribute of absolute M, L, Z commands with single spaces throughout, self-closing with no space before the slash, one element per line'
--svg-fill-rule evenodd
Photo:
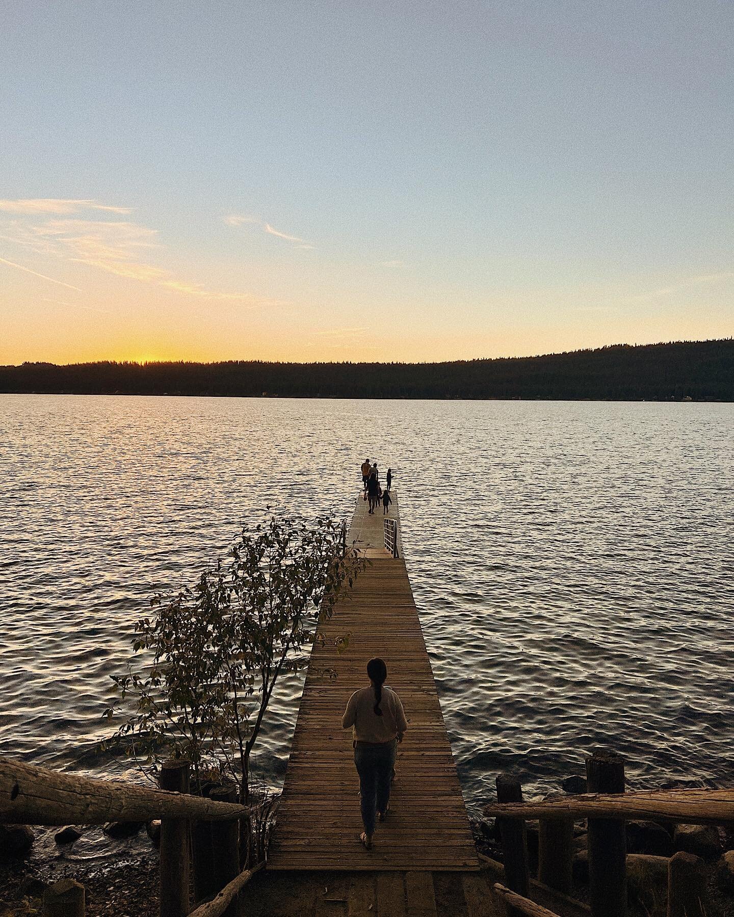
<path fill-rule="evenodd" d="M 597 750 L 586 758 L 590 793 L 623 793 L 625 763 L 614 752 Z M 624 819 L 588 820 L 589 898 L 592 917 L 627 914 L 627 840 Z"/>

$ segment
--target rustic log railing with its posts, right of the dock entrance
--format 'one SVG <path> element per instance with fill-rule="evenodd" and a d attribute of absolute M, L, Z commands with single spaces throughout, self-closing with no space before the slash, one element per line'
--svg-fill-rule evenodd
<path fill-rule="evenodd" d="M 524 802 L 517 777 L 497 777 L 497 801 L 484 807 L 484 815 L 496 819 L 505 884 L 515 893 L 505 896 L 508 911 L 530 913 L 529 905 L 525 909 L 519 906 L 517 895 L 533 897 L 533 886 L 563 897 L 571 893 L 574 822 L 587 820 L 591 917 L 626 917 L 626 822 L 734 823 L 734 789 L 626 792 L 624 762 L 606 752 L 595 752 L 586 759 L 586 779 L 588 793 Z M 539 820 L 536 882 L 528 878 L 526 821 L 530 819 Z M 667 917 L 706 917 L 706 911 L 704 861 L 679 851 L 669 859 Z"/>

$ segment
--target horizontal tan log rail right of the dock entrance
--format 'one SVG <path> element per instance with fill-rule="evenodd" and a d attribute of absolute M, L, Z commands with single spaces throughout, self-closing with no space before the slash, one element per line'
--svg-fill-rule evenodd
<path fill-rule="evenodd" d="M 619 818 L 684 824 L 734 822 L 734 790 L 635 790 L 584 793 L 543 802 L 490 802 L 484 814 L 502 818 Z"/>

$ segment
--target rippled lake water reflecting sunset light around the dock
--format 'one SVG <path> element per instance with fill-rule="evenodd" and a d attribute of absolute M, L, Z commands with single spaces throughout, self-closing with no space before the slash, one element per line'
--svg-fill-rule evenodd
<path fill-rule="evenodd" d="M 730 779 L 734 405 L 0 396 L 0 752 L 90 755 L 153 591 L 267 504 L 349 514 L 395 470 L 464 795 L 594 746 L 633 785 Z M 284 774 L 301 684 L 272 707 Z"/>

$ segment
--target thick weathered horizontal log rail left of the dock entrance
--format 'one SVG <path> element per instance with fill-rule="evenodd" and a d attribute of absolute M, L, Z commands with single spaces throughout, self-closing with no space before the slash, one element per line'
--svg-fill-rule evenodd
<path fill-rule="evenodd" d="M 228 821 L 247 812 L 229 802 L 60 774 L 0 756 L 0 823 L 104 824 L 161 817 Z"/>

